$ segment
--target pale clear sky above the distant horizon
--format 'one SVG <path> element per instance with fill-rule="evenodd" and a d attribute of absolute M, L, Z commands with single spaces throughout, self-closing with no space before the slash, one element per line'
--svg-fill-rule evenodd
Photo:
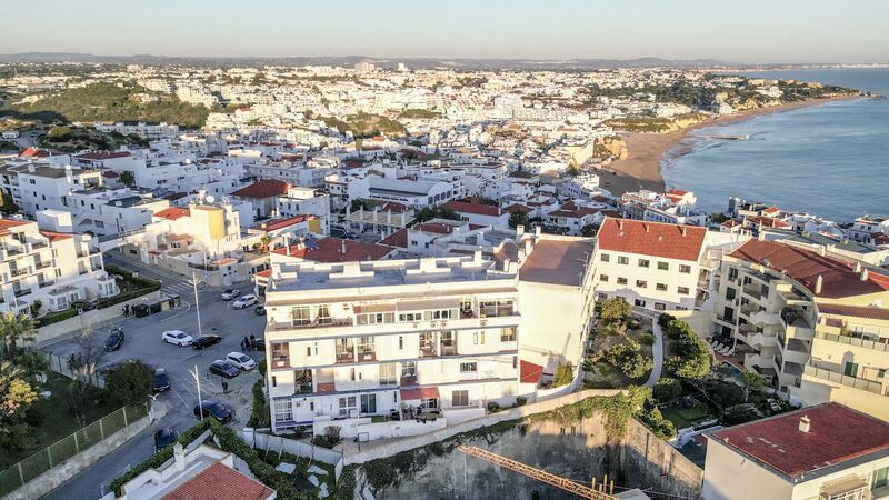
<path fill-rule="evenodd" d="M 886 0 L 3 0 L 0 53 L 889 62 Z"/>

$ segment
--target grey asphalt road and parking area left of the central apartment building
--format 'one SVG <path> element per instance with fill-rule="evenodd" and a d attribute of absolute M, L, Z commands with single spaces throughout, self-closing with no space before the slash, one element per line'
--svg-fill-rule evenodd
<path fill-rule="evenodd" d="M 166 330 L 181 330 L 193 338 L 198 337 L 197 308 L 193 303 L 194 293 L 191 284 L 184 283 L 181 277 L 168 274 L 162 270 L 142 269 L 129 261 L 109 258 L 109 254 L 106 256 L 106 263 L 138 270 L 141 276 L 160 279 L 164 291 L 174 291 L 182 299 L 182 304 L 177 309 L 146 318 L 121 318 L 113 323 L 123 329 L 126 340 L 120 350 L 104 354 L 99 361 L 100 369 L 129 359 L 139 359 L 151 367 L 166 369 L 171 389 L 158 394 L 157 400 L 166 403 L 168 413 L 44 498 L 98 499 L 101 497 L 102 484 L 107 484 L 128 467 L 141 462 L 153 453 L 153 436 L 158 429 L 172 427 L 181 432 L 191 427 L 196 422 L 192 410 L 198 403 L 198 391 L 189 370 L 193 370 L 196 366 L 201 376 L 202 399 L 214 399 L 232 407 L 236 418 L 231 426 L 236 428 L 243 427 L 250 418 L 251 389 L 259 377 L 257 370 L 229 380 L 229 392 L 224 394 L 221 379 L 209 376 L 207 370 L 213 360 L 224 359 L 226 354 L 232 351 L 241 351 L 240 342 L 244 336 L 252 333 L 262 337 L 264 318 L 256 316 L 252 307 L 243 310 L 231 309 L 230 302 L 219 298 L 222 289 L 203 289 L 199 291 L 203 333 L 218 334 L 222 337 L 222 341 L 201 351 L 162 342 L 161 333 Z M 249 282 L 240 283 L 236 288 L 242 293 L 252 292 L 252 284 Z M 111 324 L 94 334 L 101 336 L 103 341 L 109 328 Z M 64 357 L 76 352 L 78 343 L 73 339 L 68 339 L 44 346 L 42 350 Z M 247 354 L 257 361 L 264 358 L 264 352 L 250 351 Z"/>

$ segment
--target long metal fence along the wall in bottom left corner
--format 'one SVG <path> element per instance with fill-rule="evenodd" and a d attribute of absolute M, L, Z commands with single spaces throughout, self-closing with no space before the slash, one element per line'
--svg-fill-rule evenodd
<path fill-rule="evenodd" d="M 123 407 L 0 472 L 0 496 L 9 494 L 38 476 L 83 452 L 148 414 L 148 404 Z"/>

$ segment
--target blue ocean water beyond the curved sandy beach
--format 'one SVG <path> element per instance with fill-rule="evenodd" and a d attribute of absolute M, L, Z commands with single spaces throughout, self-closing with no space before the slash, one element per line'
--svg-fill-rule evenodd
<path fill-rule="evenodd" d="M 889 96 L 889 69 L 882 68 L 745 74 Z M 707 211 L 726 211 L 738 197 L 836 222 L 889 216 L 889 99 L 828 102 L 695 130 L 665 154 L 661 174 L 668 188 L 695 191 Z"/>

